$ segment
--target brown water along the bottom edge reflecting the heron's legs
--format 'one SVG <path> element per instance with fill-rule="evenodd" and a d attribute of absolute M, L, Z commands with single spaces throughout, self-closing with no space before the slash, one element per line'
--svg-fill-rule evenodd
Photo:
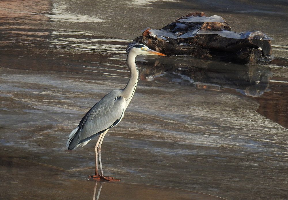
<path fill-rule="evenodd" d="M 23 152 L 0 153 L 1 199 L 222 199 L 160 186 L 71 180 L 61 175 L 61 168 L 23 159 Z"/>

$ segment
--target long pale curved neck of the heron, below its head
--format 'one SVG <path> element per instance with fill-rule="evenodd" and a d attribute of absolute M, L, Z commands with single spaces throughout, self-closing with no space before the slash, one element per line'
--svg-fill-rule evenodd
<path fill-rule="evenodd" d="M 135 63 L 136 54 L 129 52 L 127 55 L 127 66 L 130 70 L 130 78 L 126 87 L 122 90 L 123 97 L 126 99 L 126 108 L 130 103 L 138 82 L 139 71 Z M 125 109 L 126 109 L 125 108 Z"/>

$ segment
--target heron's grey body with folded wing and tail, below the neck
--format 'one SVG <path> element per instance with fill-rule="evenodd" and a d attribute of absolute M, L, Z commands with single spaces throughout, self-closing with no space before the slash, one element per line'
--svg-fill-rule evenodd
<path fill-rule="evenodd" d="M 118 124 L 123 118 L 126 101 L 114 90 L 104 96 L 82 118 L 78 127 L 71 132 L 67 142 L 69 150 Z M 83 145 L 85 145 L 83 144 Z"/>

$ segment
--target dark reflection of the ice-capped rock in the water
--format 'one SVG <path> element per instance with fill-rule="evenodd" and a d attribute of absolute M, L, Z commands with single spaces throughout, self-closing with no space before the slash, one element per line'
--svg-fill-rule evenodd
<path fill-rule="evenodd" d="M 192 57 L 145 60 L 140 70 L 142 80 L 165 76 L 170 82 L 180 85 L 211 90 L 229 88 L 252 97 L 259 97 L 269 91 L 269 80 L 273 75 L 266 66 L 225 64 Z"/>

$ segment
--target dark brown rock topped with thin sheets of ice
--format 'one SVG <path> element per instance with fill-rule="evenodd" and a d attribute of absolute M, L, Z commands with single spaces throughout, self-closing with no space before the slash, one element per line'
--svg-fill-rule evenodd
<path fill-rule="evenodd" d="M 255 65 L 272 60 L 271 39 L 261 31 L 233 32 L 222 17 L 206 17 L 203 12 L 195 12 L 160 30 L 146 29 L 127 46 L 127 51 L 142 43 L 166 55 Z"/>

